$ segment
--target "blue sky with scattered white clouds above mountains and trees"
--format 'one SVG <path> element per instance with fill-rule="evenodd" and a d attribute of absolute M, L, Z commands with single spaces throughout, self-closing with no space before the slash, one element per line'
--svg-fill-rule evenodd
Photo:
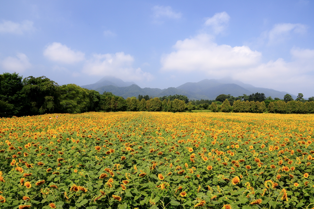
<path fill-rule="evenodd" d="M 0 73 L 168 88 L 229 76 L 314 96 L 313 1 L 2 1 Z"/>

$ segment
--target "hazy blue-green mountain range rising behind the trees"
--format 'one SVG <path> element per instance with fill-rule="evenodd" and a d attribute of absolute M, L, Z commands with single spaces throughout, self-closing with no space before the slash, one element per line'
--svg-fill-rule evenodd
<path fill-rule="evenodd" d="M 81 86 L 90 90 L 96 90 L 100 94 L 103 92 L 112 92 L 117 96 L 122 96 L 124 99 L 127 97 L 138 97 L 141 95 L 149 95 L 154 97 L 162 97 L 168 95 L 181 94 L 186 95 L 190 100 L 193 99 L 209 99 L 214 100 L 220 94 L 230 94 L 234 97 L 242 96 L 243 94 L 250 95 L 255 93 L 264 93 L 266 97 L 271 96 L 274 98 L 283 99 L 288 92 L 276 91 L 271 88 L 259 88 L 251 84 L 246 84 L 232 78 L 222 79 L 204 79 L 197 83 L 184 83 L 176 88 L 170 87 L 165 89 L 160 88 L 140 88 L 134 82 L 124 82 L 119 78 L 105 76 L 96 83 Z M 297 96 L 290 94 L 293 99 Z"/>

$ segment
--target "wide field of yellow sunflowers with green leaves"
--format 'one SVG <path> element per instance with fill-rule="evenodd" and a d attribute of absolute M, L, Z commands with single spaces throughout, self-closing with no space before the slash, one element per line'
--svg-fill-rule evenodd
<path fill-rule="evenodd" d="M 0 118 L 0 208 L 313 208 L 313 129 L 311 114 Z"/>

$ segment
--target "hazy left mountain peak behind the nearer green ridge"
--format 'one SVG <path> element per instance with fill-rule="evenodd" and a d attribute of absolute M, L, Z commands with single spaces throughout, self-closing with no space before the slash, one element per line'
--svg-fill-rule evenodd
<path fill-rule="evenodd" d="M 101 78 L 99 81 L 93 84 L 84 85 L 81 86 L 82 88 L 87 88 L 90 90 L 96 90 L 97 88 L 103 87 L 103 86 L 117 86 L 117 87 L 126 87 L 131 86 L 132 84 L 135 84 L 134 82 L 124 82 L 120 78 L 115 78 L 111 76 L 105 76 L 104 78 Z"/>

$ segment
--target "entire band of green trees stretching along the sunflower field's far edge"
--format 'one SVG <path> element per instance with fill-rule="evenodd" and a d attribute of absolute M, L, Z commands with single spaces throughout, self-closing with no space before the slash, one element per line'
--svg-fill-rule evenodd
<path fill-rule="evenodd" d="M 182 112 L 211 110 L 213 112 L 250 112 L 305 114 L 314 113 L 314 97 L 297 99 L 286 94 L 284 99 L 265 97 L 263 93 L 234 97 L 220 94 L 215 100 L 190 100 L 185 95 L 149 97 L 138 95 L 124 99 L 111 92 L 99 94 L 76 84 L 59 86 L 41 77 L 22 78 L 18 73 L 0 74 L 0 117 L 39 115 L 46 113 L 83 113 L 88 111 L 165 111 Z"/>

